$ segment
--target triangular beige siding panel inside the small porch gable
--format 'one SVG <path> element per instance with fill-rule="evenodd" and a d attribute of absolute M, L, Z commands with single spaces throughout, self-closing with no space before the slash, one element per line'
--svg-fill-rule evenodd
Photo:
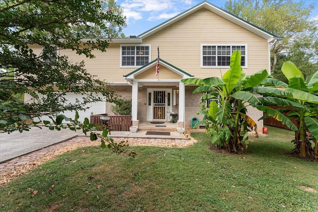
<path fill-rule="evenodd" d="M 156 79 L 157 78 L 156 66 L 138 74 L 135 78 L 136 79 Z M 182 79 L 182 76 L 174 73 L 173 71 L 168 70 L 165 67 L 159 66 L 159 78 L 160 79 Z"/>

